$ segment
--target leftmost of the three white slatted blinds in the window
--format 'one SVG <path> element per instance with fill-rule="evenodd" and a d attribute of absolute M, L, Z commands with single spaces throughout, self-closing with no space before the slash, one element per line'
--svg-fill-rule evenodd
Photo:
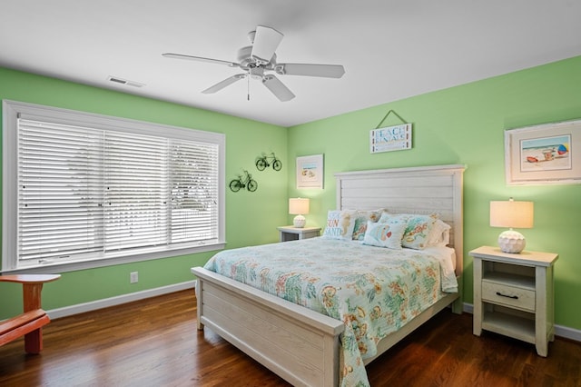
<path fill-rule="evenodd" d="M 18 122 L 18 258 L 103 250 L 103 135 Z"/>

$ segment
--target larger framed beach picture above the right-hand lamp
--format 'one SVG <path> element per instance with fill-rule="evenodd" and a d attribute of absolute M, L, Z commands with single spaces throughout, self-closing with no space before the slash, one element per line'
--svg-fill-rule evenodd
<path fill-rule="evenodd" d="M 581 183 L 581 120 L 505 131 L 508 185 Z"/>

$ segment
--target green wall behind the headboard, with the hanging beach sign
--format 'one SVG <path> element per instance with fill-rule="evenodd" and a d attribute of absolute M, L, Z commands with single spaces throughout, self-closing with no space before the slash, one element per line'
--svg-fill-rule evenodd
<path fill-rule="evenodd" d="M 389 87 L 389 85 L 386 85 Z M 369 130 L 393 109 L 413 124 L 413 148 L 369 153 Z M 522 126 L 581 119 L 581 56 L 549 65 L 422 94 L 349 114 L 289 128 L 289 159 L 324 154 L 324 190 L 295 189 L 311 198 L 308 225 L 324 225 L 335 208 L 334 173 L 404 166 L 466 164 L 464 174 L 464 301 L 472 303 L 472 259 L 468 252 L 496 245 L 502 230 L 488 225 L 491 200 L 535 202 L 535 227 L 523 230 L 527 249 L 559 253 L 555 268 L 556 323 L 581 329 L 581 184 L 507 186 L 504 132 Z M 389 114 L 383 126 L 400 124 Z M 577 165 L 579 166 L 579 165 Z"/>

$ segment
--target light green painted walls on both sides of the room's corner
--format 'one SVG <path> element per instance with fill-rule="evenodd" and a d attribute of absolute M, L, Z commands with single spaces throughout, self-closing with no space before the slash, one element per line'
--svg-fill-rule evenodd
<path fill-rule="evenodd" d="M 227 180 L 246 168 L 259 182 L 256 193 L 226 193 L 228 248 L 277 241 L 276 226 L 291 223 L 288 197 L 310 197 L 307 223 L 323 226 L 327 211 L 335 207 L 336 172 L 466 164 L 465 302 L 472 303 L 468 251 L 482 244 L 494 245 L 502 231 L 488 225 L 488 202 L 510 196 L 532 200 L 535 227 L 523 231 L 527 249 L 559 253 L 556 323 L 581 329 L 576 301 L 581 293 L 581 259 L 572 243 L 581 230 L 581 185 L 507 186 L 504 174 L 505 130 L 581 118 L 581 56 L 288 129 L 2 68 L 0 98 L 225 133 Z M 413 123 L 413 148 L 369 154 L 369 130 L 389 109 Z M 399 124 L 393 114 L 384 123 L 389 124 Z M 282 171 L 257 171 L 255 157 L 271 151 L 283 161 Z M 324 154 L 325 187 L 296 190 L 295 158 L 310 154 Z M 204 263 L 212 254 L 64 273 L 61 280 L 44 287 L 44 307 L 53 309 L 189 281 L 190 267 Z M 133 271 L 140 273 L 137 284 L 129 284 Z M 3 318 L 21 307 L 20 289 L 0 285 Z"/>

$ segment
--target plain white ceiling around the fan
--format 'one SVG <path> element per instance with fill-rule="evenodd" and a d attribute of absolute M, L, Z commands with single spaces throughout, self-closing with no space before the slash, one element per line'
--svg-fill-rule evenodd
<path fill-rule="evenodd" d="M 202 94 L 240 69 L 256 25 L 279 63 L 344 65 L 340 79 L 279 76 Z M 291 126 L 581 55 L 579 0 L 1 0 L 0 66 Z M 108 77 L 144 84 L 113 84 Z M 2 87 L 2 85 L 0 85 Z"/>

